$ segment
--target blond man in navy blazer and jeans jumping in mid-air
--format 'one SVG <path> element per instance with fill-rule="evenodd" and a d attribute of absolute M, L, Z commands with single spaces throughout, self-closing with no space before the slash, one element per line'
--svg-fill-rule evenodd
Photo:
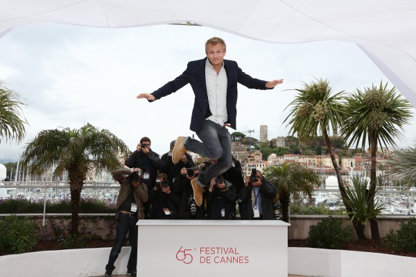
<path fill-rule="evenodd" d="M 267 82 L 252 78 L 236 62 L 224 60 L 225 51 L 223 39 L 208 39 L 205 43 L 207 57 L 189 62 L 184 73 L 153 93 L 137 96 L 153 102 L 191 84 L 195 102 L 190 129 L 196 132 L 202 142 L 189 136 L 179 136 L 173 148 L 172 161 L 180 161 L 187 150 L 217 160 L 191 181 L 193 197 L 198 206 L 202 204 L 203 188 L 232 165 L 231 136 L 227 127 L 236 129 L 237 82 L 249 89 L 273 89 L 283 82 L 283 79 Z"/>

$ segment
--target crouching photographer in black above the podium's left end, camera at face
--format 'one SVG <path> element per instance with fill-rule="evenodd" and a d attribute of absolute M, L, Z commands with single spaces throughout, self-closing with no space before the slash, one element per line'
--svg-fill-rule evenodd
<path fill-rule="evenodd" d="M 180 198 L 171 191 L 168 177 L 165 173 L 159 173 L 156 177 L 156 184 L 149 191 L 150 209 L 149 220 L 176 220 L 177 206 L 180 205 Z"/>

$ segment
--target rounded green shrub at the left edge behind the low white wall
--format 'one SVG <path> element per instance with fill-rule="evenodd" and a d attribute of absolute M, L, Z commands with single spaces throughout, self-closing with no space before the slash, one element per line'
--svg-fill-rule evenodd
<path fill-rule="evenodd" d="M 10 215 L 0 220 L 0 253 L 17 254 L 31 251 L 36 245 L 36 224 L 28 217 Z"/>

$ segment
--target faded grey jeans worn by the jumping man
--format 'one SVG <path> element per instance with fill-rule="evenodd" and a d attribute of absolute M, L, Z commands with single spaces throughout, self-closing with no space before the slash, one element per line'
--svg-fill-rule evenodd
<path fill-rule="evenodd" d="M 202 128 L 196 132 L 200 140 L 187 139 L 185 146 L 195 152 L 217 162 L 198 176 L 199 185 L 206 186 L 212 178 L 216 178 L 232 166 L 231 135 L 227 127 L 205 120 Z"/>

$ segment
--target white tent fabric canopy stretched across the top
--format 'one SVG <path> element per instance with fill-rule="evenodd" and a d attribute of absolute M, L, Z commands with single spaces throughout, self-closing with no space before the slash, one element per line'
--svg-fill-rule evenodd
<path fill-rule="evenodd" d="M 0 37 L 36 23 L 116 28 L 184 21 L 265 42 L 357 44 L 416 107 L 415 0 L 0 0 Z"/>

